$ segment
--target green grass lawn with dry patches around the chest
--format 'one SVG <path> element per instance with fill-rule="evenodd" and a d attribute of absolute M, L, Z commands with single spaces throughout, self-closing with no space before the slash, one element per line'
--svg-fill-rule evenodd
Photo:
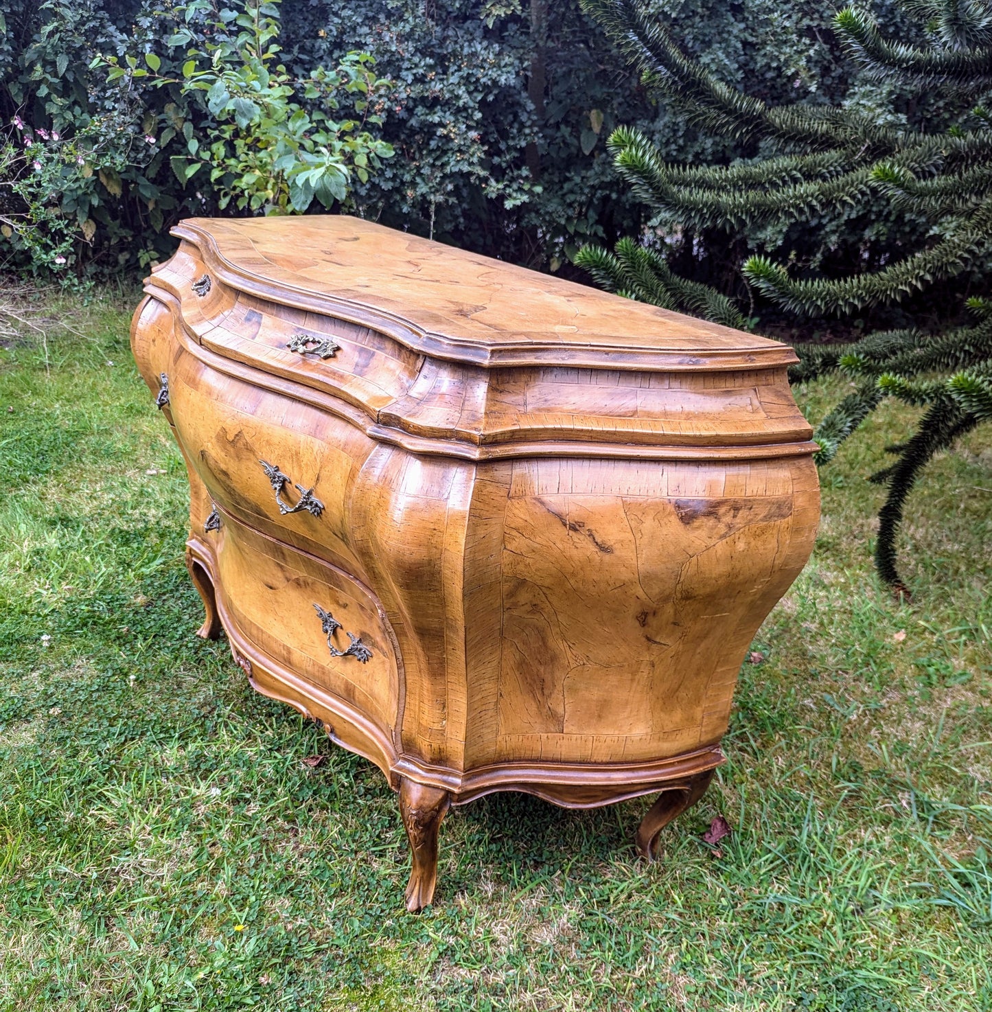
<path fill-rule="evenodd" d="M 885 405 L 825 472 L 729 762 L 660 861 L 634 856 L 644 802 L 496 795 L 446 819 L 416 918 L 381 774 L 192 635 L 136 301 L 52 300 L 78 333 L 53 329 L 48 370 L 0 351 L 0 1009 L 992 1008 L 988 427 L 913 496 L 911 606 L 873 575 L 863 476 L 912 413 Z M 817 418 L 837 388 L 799 393 Z"/>

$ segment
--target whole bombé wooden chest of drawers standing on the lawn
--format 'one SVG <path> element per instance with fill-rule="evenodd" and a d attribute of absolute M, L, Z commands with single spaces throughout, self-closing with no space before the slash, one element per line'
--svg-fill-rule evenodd
<path fill-rule="evenodd" d="M 587 808 L 722 762 L 819 510 L 791 349 L 351 218 L 190 220 L 132 343 L 189 469 L 205 637 L 399 791 Z"/>

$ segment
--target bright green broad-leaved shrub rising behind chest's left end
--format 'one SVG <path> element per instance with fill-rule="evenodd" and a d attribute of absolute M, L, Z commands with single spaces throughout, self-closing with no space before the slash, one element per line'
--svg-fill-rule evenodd
<path fill-rule="evenodd" d="M 187 101 L 198 95 L 205 125 L 197 132 L 186 120 L 188 157 L 169 161 L 184 186 L 209 169 L 221 210 L 233 203 L 239 210 L 302 214 L 315 198 L 331 209 L 347 200 L 352 177 L 367 182 L 382 159 L 393 155 L 366 129 L 382 124 L 390 89 L 376 75 L 371 57 L 352 51 L 334 71 L 317 67 L 294 79 L 276 41 L 277 3 L 243 0 L 240 11 L 218 11 L 211 0 L 193 0 L 176 8 L 182 23 L 166 46 L 186 58 L 178 78 L 160 73 L 156 53 L 129 54 L 123 65 L 116 56 L 94 61 L 108 67 L 107 79 L 127 91 L 144 78 Z M 309 109 L 297 101 L 298 87 Z M 329 112 L 348 99 L 353 116 L 332 118 Z M 161 141 L 168 144 L 178 133 L 167 125 Z"/>

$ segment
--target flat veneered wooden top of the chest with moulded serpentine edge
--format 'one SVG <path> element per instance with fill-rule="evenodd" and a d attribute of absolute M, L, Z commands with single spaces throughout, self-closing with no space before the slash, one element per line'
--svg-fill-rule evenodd
<path fill-rule="evenodd" d="M 798 360 L 768 338 L 357 218 L 194 218 L 172 235 L 232 288 L 373 327 L 435 358 L 701 371 Z"/>

